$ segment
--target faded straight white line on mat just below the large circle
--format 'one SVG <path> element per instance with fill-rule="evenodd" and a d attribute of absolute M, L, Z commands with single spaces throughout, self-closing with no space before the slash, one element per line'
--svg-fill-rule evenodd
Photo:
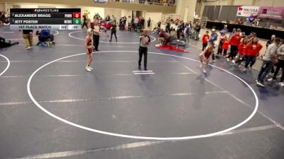
<path fill-rule="evenodd" d="M 258 126 L 258 127 L 252 127 L 248 129 L 237 129 L 232 130 L 224 134 L 219 134 L 217 136 L 227 136 L 232 134 L 241 134 L 246 132 L 252 132 L 252 131 L 261 131 L 266 129 L 274 129 L 275 125 L 267 125 L 267 126 Z M 86 153 L 95 153 L 99 151 L 119 151 L 123 149 L 128 148 L 138 148 L 138 147 L 144 147 L 144 146 L 153 146 L 158 145 L 161 143 L 174 143 L 176 141 L 170 140 L 170 141 L 143 141 L 143 142 L 136 142 L 136 143 L 126 143 L 119 146 L 109 147 L 109 148 L 92 148 L 92 149 L 83 149 L 83 150 L 75 150 L 75 151 L 62 151 L 57 153 L 44 153 L 44 154 L 38 154 L 38 155 L 28 155 L 24 158 L 13 158 L 13 159 L 43 159 L 43 158 L 61 158 L 61 157 L 68 157 L 68 156 L 75 156 L 75 155 L 84 155 Z"/>

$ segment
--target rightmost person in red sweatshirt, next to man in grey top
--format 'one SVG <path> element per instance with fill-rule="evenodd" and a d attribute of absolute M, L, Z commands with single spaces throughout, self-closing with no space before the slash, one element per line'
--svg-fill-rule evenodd
<path fill-rule="evenodd" d="M 262 45 L 258 42 L 258 37 L 254 37 L 249 44 L 244 48 L 244 52 L 246 54 L 246 64 L 244 71 L 248 69 L 249 64 L 252 67 L 256 62 L 256 57 L 259 55 L 259 51 L 262 49 Z M 251 67 L 249 69 L 251 69 Z"/>

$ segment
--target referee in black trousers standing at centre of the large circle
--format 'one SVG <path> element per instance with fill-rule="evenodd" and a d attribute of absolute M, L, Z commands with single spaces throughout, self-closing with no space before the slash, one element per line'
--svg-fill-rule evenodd
<path fill-rule="evenodd" d="M 141 69 L 142 56 L 144 55 L 144 70 L 147 71 L 147 54 L 148 54 L 148 45 L 150 45 L 150 37 L 147 35 L 147 30 L 143 30 L 142 35 L 139 36 L 140 45 L 139 45 L 139 61 L 138 69 Z"/>

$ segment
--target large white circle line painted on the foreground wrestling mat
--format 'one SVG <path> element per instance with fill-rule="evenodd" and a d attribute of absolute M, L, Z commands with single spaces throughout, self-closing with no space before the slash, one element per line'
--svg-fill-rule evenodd
<path fill-rule="evenodd" d="M 95 53 L 107 53 L 107 52 L 110 52 L 110 53 L 113 53 L 113 52 L 135 52 L 135 51 L 104 51 L 104 52 L 95 52 Z M 170 57 L 179 57 L 179 58 L 182 58 L 182 59 L 189 59 L 191 61 L 197 61 L 199 62 L 198 60 L 195 60 L 195 59 L 190 59 L 190 58 L 187 58 L 187 57 L 180 57 L 180 56 L 177 56 L 177 55 L 173 55 L 173 54 L 163 54 L 163 53 L 157 53 L 157 52 L 148 52 L 149 54 L 161 54 L 161 55 L 165 55 L 165 56 L 170 56 Z M 110 135 L 110 136 L 119 136 L 119 137 L 124 137 L 124 138 L 130 138 L 130 139 L 146 139 L 146 140 L 185 140 L 185 139 L 200 139 L 200 138 L 207 138 L 207 137 L 211 137 L 211 136 L 216 136 L 216 135 L 219 135 L 219 134 L 223 134 L 225 132 L 228 132 L 228 131 L 231 131 L 233 129 L 236 129 L 238 128 L 239 126 L 242 126 L 244 124 L 246 124 L 246 122 L 249 122 L 249 120 L 254 116 L 254 114 L 256 114 L 256 111 L 258 110 L 258 97 L 256 95 L 256 93 L 254 92 L 253 88 L 251 88 L 251 86 L 249 86 L 248 83 L 246 83 L 246 81 L 244 81 L 243 79 L 239 78 L 239 76 L 236 76 L 234 73 L 231 73 L 229 71 L 226 71 L 225 69 L 222 69 L 222 68 L 219 68 L 217 66 L 213 66 L 217 69 L 220 69 L 222 71 L 225 71 L 226 73 L 229 73 L 231 76 L 234 76 L 235 78 L 238 78 L 241 82 L 243 82 L 246 86 L 248 86 L 248 88 L 253 92 L 253 97 L 255 98 L 256 100 L 256 106 L 253 110 L 253 112 L 249 115 L 249 117 L 247 117 L 246 119 L 244 119 L 243 122 L 239 123 L 239 124 L 236 124 L 235 126 L 232 126 L 228 129 L 224 129 L 222 131 L 217 131 L 217 132 L 214 132 L 214 133 L 209 133 L 209 134 L 202 134 L 202 135 L 197 135 L 197 136 L 182 136 L 182 137 L 148 137 L 148 136 L 131 136 L 131 135 L 124 135 L 124 134 L 116 134 L 116 133 L 111 133 L 111 132 L 107 132 L 107 131 L 100 131 L 100 130 L 97 130 L 97 129 L 92 129 L 92 128 L 89 128 L 87 126 L 82 126 L 80 124 L 75 124 L 73 122 L 70 122 L 70 121 L 67 121 L 66 119 L 62 119 L 61 117 L 58 117 L 56 116 L 55 114 L 49 112 L 48 110 L 45 110 L 44 107 L 42 107 L 36 100 L 35 98 L 33 98 L 33 95 L 31 93 L 31 80 L 33 78 L 33 76 L 35 76 L 35 73 L 37 73 L 40 69 L 43 69 L 43 67 L 45 66 L 48 66 L 49 64 L 52 64 L 53 62 L 55 61 L 59 61 L 61 59 L 67 59 L 69 57 L 76 57 L 76 56 L 80 56 L 80 55 L 83 55 L 83 54 L 86 54 L 86 53 L 81 53 L 81 54 L 73 54 L 73 55 L 70 55 L 70 56 L 67 56 L 67 57 L 62 57 L 60 59 L 55 59 L 53 61 L 50 61 L 48 62 L 47 64 L 44 64 L 43 66 L 40 66 L 40 68 L 36 69 L 30 76 L 30 78 L 28 78 L 28 83 L 27 83 L 27 91 L 28 91 L 28 95 L 30 96 L 31 100 L 35 103 L 35 105 L 40 108 L 40 110 L 43 110 L 43 112 L 49 114 L 51 117 L 54 117 L 55 119 L 58 119 L 60 120 L 61 122 L 65 122 L 66 124 L 70 124 L 72 126 L 76 126 L 80 129 L 85 129 L 85 130 L 88 130 L 88 131 L 93 131 L 93 132 L 97 132 L 99 134 L 105 134 L 105 135 Z"/>

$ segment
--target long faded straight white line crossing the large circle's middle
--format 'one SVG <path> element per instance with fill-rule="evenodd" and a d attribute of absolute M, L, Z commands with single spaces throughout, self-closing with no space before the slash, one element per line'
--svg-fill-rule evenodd
<path fill-rule="evenodd" d="M 214 93 L 227 93 L 226 91 L 211 91 L 211 92 L 200 92 L 200 93 L 171 93 L 165 95 L 125 95 L 125 96 L 116 96 L 109 98 L 85 98 L 85 99 L 65 99 L 65 100 L 44 100 L 38 101 L 38 103 L 47 103 L 47 102 L 86 102 L 94 100 L 125 100 L 132 98 L 156 98 L 156 97 L 173 97 L 173 96 L 185 96 L 185 95 L 209 95 Z M 23 105 L 33 102 L 0 102 L 0 105 Z"/>

